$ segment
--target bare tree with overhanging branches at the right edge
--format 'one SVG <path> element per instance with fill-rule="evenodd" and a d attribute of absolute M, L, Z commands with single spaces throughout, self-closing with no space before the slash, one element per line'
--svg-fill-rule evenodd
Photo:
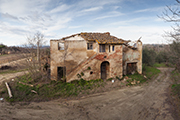
<path fill-rule="evenodd" d="M 166 6 L 164 12 L 159 17 L 166 22 L 174 24 L 171 32 L 166 32 L 166 37 L 170 40 L 170 52 L 172 61 L 180 71 L 180 0 L 175 0 L 173 6 Z"/>

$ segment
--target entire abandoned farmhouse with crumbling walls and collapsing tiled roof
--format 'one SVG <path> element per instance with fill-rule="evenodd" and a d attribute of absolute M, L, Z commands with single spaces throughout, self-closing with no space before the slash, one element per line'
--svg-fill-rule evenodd
<path fill-rule="evenodd" d="M 107 33 L 79 33 L 50 41 L 51 79 L 121 78 L 142 73 L 142 42 L 132 43 Z"/>

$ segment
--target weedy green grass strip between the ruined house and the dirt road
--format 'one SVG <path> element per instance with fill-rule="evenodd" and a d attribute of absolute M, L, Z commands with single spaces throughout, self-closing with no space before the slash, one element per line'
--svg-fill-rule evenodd
<path fill-rule="evenodd" d="M 106 81 L 103 81 L 102 79 L 86 81 L 80 78 L 80 80 L 74 80 L 70 83 L 51 81 L 47 79 L 38 81 L 34 80 L 31 75 L 27 74 L 9 82 L 13 98 L 8 98 L 7 89 L 4 83 L 2 84 L 3 86 L 0 86 L 0 97 L 3 97 L 10 102 L 40 102 L 56 98 L 79 97 L 97 92 L 103 92 L 104 90 L 102 89 L 112 90 L 115 87 L 120 88 L 121 86 L 133 85 L 131 82 L 134 81 L 140 81 L 139 83 L 143 83 L 160 73 L 158 69 L 153 67 L 145 66 L 144 69 L 145 71 L 143 75 L 138 73 L 128 75 L 128 78 L 130 79 L 126 80 L 125 82 L 125 77 L 120 80 L 118 78 L 110 78 Z M 147 78 L 145 78 L 144 75 Z M 112 80 L 113 82 L 111 82 Z"/>

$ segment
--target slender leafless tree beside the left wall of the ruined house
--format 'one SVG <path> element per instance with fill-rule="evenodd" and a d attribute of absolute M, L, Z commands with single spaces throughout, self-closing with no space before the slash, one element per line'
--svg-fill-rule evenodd
<path fill-rule="evenodd" d="M 26 48 L 30 54 L 26 54 L 28 72 L 33 80 L 46 79 L 47 72 L 44 67 L 47 66 L 48 56 L 47 49 L 42 48 L 45 45 L 44 35 L 40 32 L 35 33 L 33 36 L 27 37 Z M 47 70 L 47 68 L 46 68 Z"/>

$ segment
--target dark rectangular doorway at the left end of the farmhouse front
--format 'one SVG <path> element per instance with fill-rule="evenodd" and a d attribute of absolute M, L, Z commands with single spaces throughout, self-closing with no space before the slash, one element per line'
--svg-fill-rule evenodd
<path fill-rule="evenodd" d="M 58 67 L 57 68 L 57 79 L 58 80 L 64 80 L 66 78 L 66 67 Z"/>

